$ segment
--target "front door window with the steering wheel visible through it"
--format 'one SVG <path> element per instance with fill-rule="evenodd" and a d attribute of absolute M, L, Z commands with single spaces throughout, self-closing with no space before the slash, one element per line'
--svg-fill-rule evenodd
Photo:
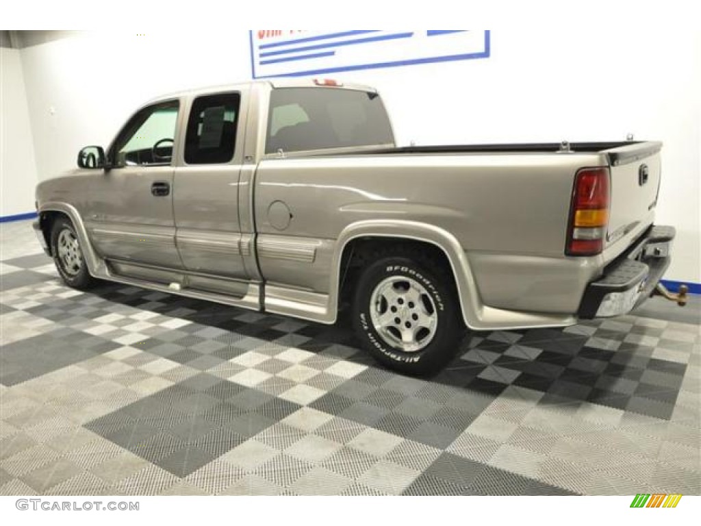
<path fill-rule="evenodd" d="M 118 166 L 168 165 L 172 161 L 178 102 L 142 109 L 121 131 L 112 148 Z"/>

